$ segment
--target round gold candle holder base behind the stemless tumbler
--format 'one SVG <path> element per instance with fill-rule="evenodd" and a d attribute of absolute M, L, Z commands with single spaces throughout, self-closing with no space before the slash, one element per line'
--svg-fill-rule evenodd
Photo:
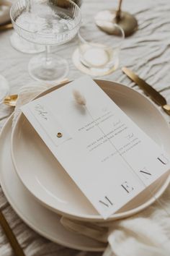
<path fill-rule="evenodd" d="M 135 17 L 129 12 L 120 12 L 117 15 L 117 10 L 105 10 L 99 12 L 94 17 L 97 26 L 108 34 L 116 35 L 114 23 L 120 25 L 124 30 L 125 36 L 132 35 L 138 29 L 138 22 Z"/>

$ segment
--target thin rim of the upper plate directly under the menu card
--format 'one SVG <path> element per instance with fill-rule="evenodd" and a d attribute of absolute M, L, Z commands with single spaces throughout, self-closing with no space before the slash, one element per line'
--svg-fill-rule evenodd
<path fill-rule="evenodd" d="M 54 85 L 53 87 L 51 88 L 48 88 L 47 90 L 44 90 L 42 91 L 40 94 L 36 95 L 35 98 L 32 99 L 35 100 L 36 98 L 40 98 L 42 97 L 43 95 L 46 95 L 47 93 L 50 93 L 52 92 L 53 90 L 57 90 L 58 88 L 61 88 L 63 87 L 64 85 L 68 84 L 69 82 L 71 81 L 68 81 L 68 82 L 63 82 L 62 84 L 60 85 Z M 170 133 L 170 127 L 166 121 L 166 118 L 165 116 L 162 114 L 161 112 L 161 109 L 158 108 L 158 106 L 153 103 L 153 101 L 151 101 L 150 98 L 148 98 L 146 95 L 143 95 L 143 93 L 140 93 L 138 90 L 135 90 L 134 88 L 130 88 L 129 86 L 127 85 L 123 85 L 121 83 L 118 83 L 118 82 L 115 82 L 115 81 L 111 81 L 111 80 L 96 80 L 94 79 L 94 82 L 109 82 L 109 83 L 112 83 L 112 87 L 113 86 L 121 86 L 121 87 L 125 87 L 126 89 L 128 90 L 132 90 L 133 92 L 135 92 L 137 95 L 139 95 L 140 97 L 143 97 L 146 99 L 146 101 L 148 101 L 149 103 L 151 103 L 151 105 L 156 108 L 156 111 L 158 111 L 158 113 L 161 115 L 161 118 L 164 120 L 164 123 L 166 124 L 166 127 L 167 129 L 169 129 L 169 133 Z M 103 86 L 104 88 L 104 86 Z M 15 122 L 14 124 L 14 127 L 12 129 L 12 136 L 11 136 L 11 154 L 12 154 L 12 161 L 14 163 L 14 168 L 15 168 L 15 171 L 17 172 L 17 175 L 19 176 L 19 173 L 17 171 L 17 164 L 16 164 L 16 161 L 15 161 L 15 158 L 14 158 L 14 150 L 13 150 L 13 140 L 14 140 L 14 132 L 15 130 L 17 129 L 17 124 L 19 122 L 19 119 L 21 119 L 22 117 L 22 113 L 19 114 L 19 116 L 17 117 L 17 121 Z M 22 184 L 24 184 L 24 182 L 22 181 L 22 178 L 19 176 L 19 179 L 21 180 Z M 136 213 L 139 213 L 140 211 L 142 210 L 145 210 L 146 208 L 148 208 L 148 206 L 152 205 L 153 202 L 156 201 L 156 198 L 160 197 L 164 191 L 166 190 L 166 188 L 169 186 L 169 183 L 170 183 L 170 174 L 169 176 L 165 179 L 165 182 L 164 184 L 162 185 L 162 187 L 160 189 L 158 189 L 158 191 L 156 192 L 156 197 L 151 197 L 150 200 L 144 202 L 142 205 L 138 206 L 137 208 L 134 208 L 134 209 L 131 209 L 131 210 L 128 210 L 128 211 L 125 211 L 125 212 L 122 212 L 122 213 L 114 213 L 112 214 L 112 216 L 109 216 L 109 218 L 107 218 L 106 221 L 116 221 L 116 220 L 119 220 L 119 219 L 122 219 L 122 218 L 128 218 L 130 216 L 133 216 L 135 215 Z M 24 184 L 24 187 L 25 184 Z M 27 188 L 27 187 L 26 187 Z M 28 189 L 28 188 L 27 188 Z M 102 216 L 99 216 L 99 215 L 94 215 L 94 216 L 90 216 L 90 215 L 84 215 L 84 214 L 76 214 L 76 215 L 73 215 L 72 213 L 65 213 L 63 212 L 62 210 L 58 210 L 56 208 L 53 208 L 51 207 L 50 205 L 46 204 L 45 202 L 43 202 L 42 200 L 40 200 L 40 198 L 36 197 L 32 191 L 30 191 L 30 189 L 28 189 L 28 191 L 32 194 L 32 196 L 34 196 L 38 202 L 40 202 L 42 205 L 44 205 L 46 208 L 49 208 L 50 210 L 53 210 L 55 213 L 58 213 L 59 215 L 62 215 L 62 216 L 66 216 L 67 218 L 72 218 L 72 219 L 75 219 L 75 220 L 80 220 L 80 221 L 89 221 L 89 222 L 93 222 L 93 221 L 97 221 L 97 222 L 100 222 L 100 221 L 104 221 Z"/>

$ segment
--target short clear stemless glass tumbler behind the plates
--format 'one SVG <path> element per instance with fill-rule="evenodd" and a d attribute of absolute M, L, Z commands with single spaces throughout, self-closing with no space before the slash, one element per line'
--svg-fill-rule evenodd
<path fill-rule="evenodd" d="M 73 54 L 73 62 L 82 72 L 95 77 L 110 74 L 117 69 L 125 35 L 119 25 L 113 26 L 115 35 L 104 33 L 93 22 L 81 25 L 79 47 Z"/>

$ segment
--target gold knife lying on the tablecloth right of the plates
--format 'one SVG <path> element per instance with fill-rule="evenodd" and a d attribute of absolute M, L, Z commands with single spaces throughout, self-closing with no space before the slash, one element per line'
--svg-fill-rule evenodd
<path fill-rule="evenodd" d="M 164 98 L 161 93 L 158 93 L 157 90 L 155 90 L 151 85 L 148 85 L 146 81 L 138 77 L 137 74 L 135 74 L 127 67 L 122 67 L 122 72 L 124 72 L 131 80 L 133 80 L 133 82 L 135 82 L 144 91 L 144 93 L 150 96 L 155 103 L 161 106 L 166 114 L 170 115 L 170 105 L 167 104 L 166 98 Z"/>

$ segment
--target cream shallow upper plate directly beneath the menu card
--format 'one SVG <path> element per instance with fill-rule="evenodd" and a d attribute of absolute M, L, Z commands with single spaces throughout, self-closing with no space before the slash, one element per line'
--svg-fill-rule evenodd
<path fill-rule="evenodd" d="M 146 96 L 115 82 L 95 81 L 146 134 L 170 153 L 168 124 L 161 111 Z M 47 90 L 38 97 L 56 88 Z M 97 210 L 58 163 L 24 114 L 19 116 L 12 132 L 12 159 L 24 186 L 42 205 L 68 218 L 103 221 L 102 216 L 99 216 Z M 132 216 L 145 209 L 168 185 L 169 176 L 162 176 L 107 221 Z"/>

